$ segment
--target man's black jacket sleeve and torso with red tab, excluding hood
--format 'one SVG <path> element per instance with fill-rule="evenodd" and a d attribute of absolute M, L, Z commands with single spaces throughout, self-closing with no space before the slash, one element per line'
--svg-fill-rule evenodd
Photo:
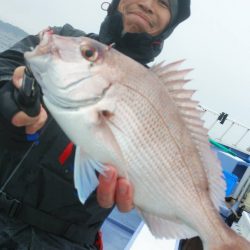
<path fill-rule="evenodd" d="M 70 25 L 53 29 L 64 36 L 85 35 Z M 23 52 L 38 42 L 38 36 L 28 36 L 0 54 L 0 212 L 71 241 L 93 244 L 111 209 L 99 207 L 95 192 L 84 205 L 79 202 L 73 184 L 74 148 L 66 152 L 69 139 L 50 115 L 35 143 L 27 141 L 24 128 L 10 122 L 19 110 L 13 100 L 13 71 L 24 65 Z"/>

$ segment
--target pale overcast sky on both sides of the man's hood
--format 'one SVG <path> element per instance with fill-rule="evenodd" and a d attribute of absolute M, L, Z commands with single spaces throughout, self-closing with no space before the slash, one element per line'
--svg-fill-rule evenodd
<path fill-rule="evenodd" d="M 29 33 L 70 23 L 98 32 L 105 16 L 99 0 L 1 0 L 0 19 Z M 212 110 L 250 127 L 250 1 L 192 0 L 192 15 L 169 38 L 157 61 L 186 59 L 189 87 Z M 250 144 L 250 143 L 249 143 Z"/>

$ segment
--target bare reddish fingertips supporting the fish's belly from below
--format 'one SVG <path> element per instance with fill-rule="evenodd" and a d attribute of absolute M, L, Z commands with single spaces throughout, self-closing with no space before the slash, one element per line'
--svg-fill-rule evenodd
<path fill-rule="evenodd" d="M 97 201 L 103 208 L 110 208 L 116 204 L 121 212 L 129 212 L 134 207 L 133 187 L 128 180 L 117 176 L 114 167 L 107 166 L 107 168 L 105 176 L 99 176 Z"/>

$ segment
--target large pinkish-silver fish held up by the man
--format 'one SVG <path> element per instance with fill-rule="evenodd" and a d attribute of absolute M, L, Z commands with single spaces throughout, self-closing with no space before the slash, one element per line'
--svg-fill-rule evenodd
<path fill-rule="evenodd" d="M 205 250 L 250 249 L 219 215 L 222 168 L 181 60 L 147 68 L 112 45 L 50 31 L 24 57 L 76 145 L 82 203 L 98 185 L 96 172 L 111 164 L 132 183 L 135 208 L 156 238 L 198 235 Z"/>

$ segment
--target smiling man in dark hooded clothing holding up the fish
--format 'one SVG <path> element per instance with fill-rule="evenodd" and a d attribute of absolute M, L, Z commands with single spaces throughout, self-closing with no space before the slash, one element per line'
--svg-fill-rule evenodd
<path fill-rule="evenodd" d="M 115 43 L 146 66 L 189 14 L 189 0 L 113 0 L 99 35 L 70 25 L 53 31 Z M 103 221 L 114 204 L 124 212 L 133 207 L 133 188 L 109 166 L 97 190 L 84 205 L 79 202 L 72 178 L 74 146 L 43 104 L 32 117 L 15 95 L 24 75 L 23 53 L 38 42 L 38 36 L 28 36 L 0 54 L 0 248 L 98 249 Z"/>

